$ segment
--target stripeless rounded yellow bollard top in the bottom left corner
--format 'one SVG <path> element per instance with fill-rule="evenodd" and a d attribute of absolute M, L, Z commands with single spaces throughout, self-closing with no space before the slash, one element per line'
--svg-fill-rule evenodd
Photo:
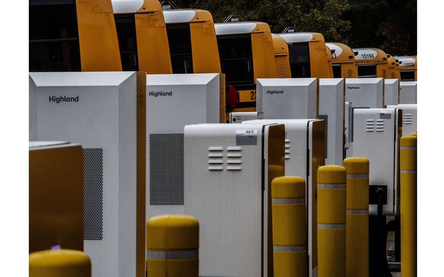
<path fill-rule="evenodd" d="M 91 259 L 79 250 L 44 250 L 29 254 L 29 277 L 91 277 Z"/>

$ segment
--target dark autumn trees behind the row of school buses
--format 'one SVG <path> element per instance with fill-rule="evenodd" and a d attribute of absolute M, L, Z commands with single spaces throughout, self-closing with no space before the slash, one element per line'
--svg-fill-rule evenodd
<path fill-rule="evenodd" d="M 167 1 L 165 1 L 167 2 Z M 287 26 L 319 32 L 325 41 L 352 48 L 375 47 L 391 55 L 416 55 L 417 0 L 175 0 L 181 8 L 211 12 L 214 22 L 229 15 L 263 21 L 271 31 Z"/>

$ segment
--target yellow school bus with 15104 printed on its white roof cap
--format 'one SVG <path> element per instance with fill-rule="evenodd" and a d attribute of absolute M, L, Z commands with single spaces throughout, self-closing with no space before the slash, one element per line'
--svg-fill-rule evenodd
<path fill-rule="evenodd" d="M 358 68 L 358 78 L 388 77 L 387 55 L 377 48 L 356 48 L 355 63 Z"/>

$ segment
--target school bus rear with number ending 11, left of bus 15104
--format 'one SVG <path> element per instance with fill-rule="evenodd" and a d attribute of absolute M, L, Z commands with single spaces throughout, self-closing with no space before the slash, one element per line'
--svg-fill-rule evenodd
<path fill-rule="evenodd" d="M 355 54 L 350 47 L 343 43 L 325 43 L 331 51 L 334 78 L 358 78 L 355 64 Z"/>

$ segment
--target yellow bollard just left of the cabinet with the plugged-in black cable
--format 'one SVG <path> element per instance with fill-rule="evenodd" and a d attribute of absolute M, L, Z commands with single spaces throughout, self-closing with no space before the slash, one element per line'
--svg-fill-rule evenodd
<path fill-rule="evenodd" d="M 346 272 L 347 277 L 368 277 L 368 172 L 366 158 L 346 158 Z"/>

